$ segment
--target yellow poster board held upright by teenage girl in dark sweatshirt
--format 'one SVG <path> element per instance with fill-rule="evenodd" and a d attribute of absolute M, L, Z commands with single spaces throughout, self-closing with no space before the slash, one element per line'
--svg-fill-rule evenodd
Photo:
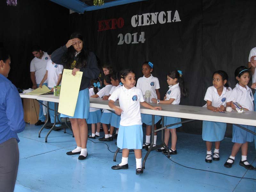
<path fill-rule="evenodd" d="M 60 88 L 59 113 L 72 117 L 74 116 L 82 75 L 83 72 L 81 71 L 77 71 L 76 75 L 73 76 L 72 70 L 63 70 Z"/>

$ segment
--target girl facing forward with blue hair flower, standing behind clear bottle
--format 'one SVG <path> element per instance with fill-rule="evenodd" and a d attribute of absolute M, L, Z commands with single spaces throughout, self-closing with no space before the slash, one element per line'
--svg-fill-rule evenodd
<path fill-rule="evenodd" d="M 152 76 L 151 72 L 153 71 L 153 67 L 154 64 L 149 62 L 149 61 L 145 61 L 142 64 L 142 73 L 143 73 L 143 77 L 140 77 L 137 81 L 137 85 L 136 87 L 140 88 L 143 96 L 145 96 L 146 91 L 150 91 L 151 92 L 151 96 L 149 99 L 149 102 L 151 102 L 152 98 L 155 99 L 160 99 L 160 85 L 159 85 L 159 80 L 158 78 Z M 156 130 L 156 123 L 161 119 L 161 116 L 155 116 L 155 130 Z M 152 126 L 152 115 L 148 115 L 148 114 L 141 114 L 141 121 L 142 123 L 146 124 L 146 141 L 143 144 L 143 148 L 145 148 L 146 150 L 148 149 L 148 146 L 150 145 L 150 135 L 151 135 L 151 126 Z M 157 135 L 155 132 L 154 135 L 154 146 L 156 146 L 156 139 L 157 139 Z"/>

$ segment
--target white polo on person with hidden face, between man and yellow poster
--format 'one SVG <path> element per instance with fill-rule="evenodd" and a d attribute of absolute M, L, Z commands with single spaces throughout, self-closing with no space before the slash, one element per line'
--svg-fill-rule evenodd
<path fill-rule="evenodd" d="M 62 74 L 63 65 L 58 65 L 48 60 L 46 70 L 48 71 L 47 81 L 48 87 L 52 88 L 56 86 L 60 74 Z"/>

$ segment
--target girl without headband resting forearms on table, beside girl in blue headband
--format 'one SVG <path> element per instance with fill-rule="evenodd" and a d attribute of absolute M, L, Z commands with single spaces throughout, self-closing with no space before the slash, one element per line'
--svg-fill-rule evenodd
<path fill-rule="evenodd" d="M 228 86 L 228 74 L 225 71 L 215 71 L 212 75 L 213 86 L 208 87 L 204 100 L 204 107 L 215 112 L 224 112 L 231 107 L 233 100 L 232 89 Z M 212 163 L 212 142 L 215 142 L 213 160 L 220 160 L 220 141 L 224 139 L 226 123 L 203 121 L 202 138 L 206 144 L 205 162 Z"/>

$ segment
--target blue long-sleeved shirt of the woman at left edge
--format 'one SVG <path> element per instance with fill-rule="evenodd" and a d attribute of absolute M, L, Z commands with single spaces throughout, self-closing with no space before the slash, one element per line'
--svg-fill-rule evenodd
<path fill-rule="evenodd" d="M 17 88 L 0 74 L 0 144 L 16 138 L 25 128 L 23 107 Z"/>

